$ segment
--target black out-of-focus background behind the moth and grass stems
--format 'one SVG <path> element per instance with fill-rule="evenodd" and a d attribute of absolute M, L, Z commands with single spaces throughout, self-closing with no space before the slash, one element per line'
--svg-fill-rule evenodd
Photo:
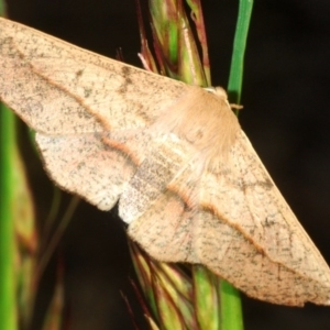
<path fill-rule="evenodd" d="M 142 2 L 144 2 L 142 0 Z M 205 0 L 213 85 L 227 86 L 238 0 Z M 139 65 L 133 0 L 8 0 L 11 19 L 79 46 Z M 330 1 L 256 0 L 240 120 L 300 222 L 330 263 Z M 52 185 L 29 146 L 24 157 L 37 205 L 47 215 Z M 69 196 L 65 195 L 64 208 Z M 134 300 L 118 219 L 81 202 L 63 253 L 70 329 L 133 329 L 120 292 Z M 54 270 L 53 270 L 54 271 Z M 47 271 L 46 278 L 52 274 Z M 38 311 L 51 280 L 42 284 Z M 329 307 L 289 308 L 243 298 L 245 329 L 330 329 Z M 37 329 L 38 319 L 34 329 Z M 143 326 L 142 326 L 143 328 Z"/>

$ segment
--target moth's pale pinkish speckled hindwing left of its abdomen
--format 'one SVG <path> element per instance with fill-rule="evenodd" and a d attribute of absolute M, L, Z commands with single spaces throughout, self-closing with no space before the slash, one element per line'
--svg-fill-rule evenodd
<path fill-rule="evenodd" d="M 111 136 L 113 135 L 113 136 Z M 101 210 L 110 210 L 143 158 L 144 134 L 36 134 L 45 168 L 55 183 Z M 128 152 L 134 151 L 129 156 Z M 138 158 L 139 155 L 139 158 Z M 134 156 L 134 157 L 133 157 Z"/>

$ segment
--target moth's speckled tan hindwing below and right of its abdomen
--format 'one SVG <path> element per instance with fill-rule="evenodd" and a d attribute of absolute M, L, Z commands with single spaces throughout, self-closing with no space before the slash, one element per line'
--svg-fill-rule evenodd
<path fill-rule="evenodd" d="M 195 215 L 175 191 L 166 189 L 128 232 L 155 260 L 199 263 L 193 242 Z"/>

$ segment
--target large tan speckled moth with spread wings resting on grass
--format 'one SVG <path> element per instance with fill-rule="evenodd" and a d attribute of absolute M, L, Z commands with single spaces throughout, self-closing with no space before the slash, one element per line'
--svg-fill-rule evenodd
<path fill-rule="evenodd" d="M 163 262 L 200 263 L 246 295 L 330 305 L 330 272 L 232 113 L 206 90 L 0 19 L 0 99 L 45 168 Z"/>

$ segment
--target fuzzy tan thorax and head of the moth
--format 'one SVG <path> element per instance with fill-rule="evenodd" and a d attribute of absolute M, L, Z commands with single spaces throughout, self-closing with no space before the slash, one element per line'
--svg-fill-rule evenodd
<path fill-rule="evenodd" d="M 187 92 L 157 119 L 153 129 L 156 134 L 176 134 L 204 160 L 227 158 L 241 130 L 224 89 L 197 86 L 189 86 Z"/>

